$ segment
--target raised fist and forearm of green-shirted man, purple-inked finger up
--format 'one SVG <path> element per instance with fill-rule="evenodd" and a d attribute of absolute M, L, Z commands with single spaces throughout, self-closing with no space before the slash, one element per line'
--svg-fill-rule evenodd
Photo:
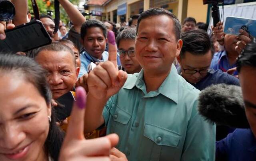
<path fill-rule="evenodd" d="M 102 111 L 108 99 L 124 85 L 127 73 L 117 67 L 117 47 L 114 32 L 108 32 L 108 61 L 102 62 L 88 74 L 88 101 L 85 113 L 85 132 L 91 132 L 102 124 Z"/>

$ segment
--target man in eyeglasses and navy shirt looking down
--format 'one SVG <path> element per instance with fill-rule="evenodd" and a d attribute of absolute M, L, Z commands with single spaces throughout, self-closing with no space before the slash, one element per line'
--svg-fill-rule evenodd
<path fill-rule="evenodd" d="M 221 70 L 210 69 L 214 46 L 206 32 L 190 30 L 184 32 L 181 39 L 183 46 L 177 57 L 180 63 L 178 73 L 190 84 L 199 90 L 219 83 L 240 85 L 238 78 Z"/>

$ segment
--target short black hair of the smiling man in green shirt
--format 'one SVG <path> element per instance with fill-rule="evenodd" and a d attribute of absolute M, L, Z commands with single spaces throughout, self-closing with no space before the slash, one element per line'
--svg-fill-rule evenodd
<path fill-rule="evenodd" d="M 176 37 L 176 40 L 179 40 L 180 33 L 181 33 L 180 21 L 172 12 L 165 10 L 163 8 L 157 8 L 157 7 L 150 8 L 140 14 L 140 17 L 138 18 L 137 28 L 136 28 L 136 34 L 138 34 L 138 28 L 140 26 L 141 20 L 152 17 L 152 16 L 160 16 L 160 15 L 166 15 L 173 20 L 175 37 Z"/>

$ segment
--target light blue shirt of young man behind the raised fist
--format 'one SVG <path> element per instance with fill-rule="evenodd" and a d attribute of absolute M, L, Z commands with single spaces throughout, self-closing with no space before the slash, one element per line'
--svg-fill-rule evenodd
<path fill-rule="evenodd" d="M 81 60 L 81 67 L 80 67 L 80 72 L 78 74 L 78 78 L 83 76 L 84 74 L 88 73 L 88 65 L 90 63 L 96 63 L 96 62 L 105 62 L 108 60 L 108 52 L 104 51 L 102 53 L 102 59 L 99 60 L 97 58 L 94 58 L 93 56 L 91 56 L 90 54 L 88 54 L 86 51 L 82 52 L 82 54 L 80 54 L 80 60 Z M 121 64 L 120 62 L 120 58 L 119 56 L 117 56 L 117 65 L 119 66 Z"/>

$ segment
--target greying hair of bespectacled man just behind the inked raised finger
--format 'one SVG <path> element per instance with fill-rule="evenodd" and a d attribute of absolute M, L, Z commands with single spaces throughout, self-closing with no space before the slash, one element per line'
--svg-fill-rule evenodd
<path fill-rule="evenodd" d="M 135 40 L 136 38 L 136 30 L 135 28 L 126 27 L 122 30 L 116 37 L 116 45 L 119 46 L 120 40 Z"/>

